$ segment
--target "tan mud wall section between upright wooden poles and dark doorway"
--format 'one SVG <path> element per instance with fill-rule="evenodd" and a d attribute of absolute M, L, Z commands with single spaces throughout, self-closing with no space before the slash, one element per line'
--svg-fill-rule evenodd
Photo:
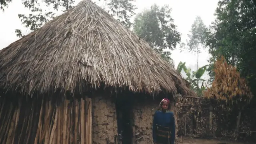
<path fill-rule="evenodd" d="M 92 98 L 92 143 L 114 144 L 117 135 L 116 106 L 106 96 Z"/>

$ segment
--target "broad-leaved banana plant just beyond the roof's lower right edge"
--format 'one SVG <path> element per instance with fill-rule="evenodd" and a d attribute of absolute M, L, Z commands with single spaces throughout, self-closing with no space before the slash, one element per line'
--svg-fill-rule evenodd
<path fill-rule="evenodd" d="M 198 96 L 202 96 L 202 92 L 206 90 L 206 87 L 204 86 L 205 80 L 202 79 L 202 76 L 204 75 L 204 72 L 206 72 L 207 65 L 202 66 L 198 68 L 196 71 L 192 71 L 190 68 L 186 67 L 186 62 L 180 62 L 176 68 L 176 70 L 181 73 L 182 70 L 184 70 L 186 74 L 185 80 L 187 80 L 190 83 L 190 88 L 196 92 Z M 202 82 L 202 84 L 199 84 Z"/>

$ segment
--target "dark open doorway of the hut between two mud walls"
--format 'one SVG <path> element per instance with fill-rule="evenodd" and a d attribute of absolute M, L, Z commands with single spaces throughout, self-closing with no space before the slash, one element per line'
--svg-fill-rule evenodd
<path fill-rule="evenodd" d="M 116 100 L 116 116 L 118 126 L 118 143 L 132 144 L 132 98 L 129 98 L 128 96 L 118 96 Z"/>

